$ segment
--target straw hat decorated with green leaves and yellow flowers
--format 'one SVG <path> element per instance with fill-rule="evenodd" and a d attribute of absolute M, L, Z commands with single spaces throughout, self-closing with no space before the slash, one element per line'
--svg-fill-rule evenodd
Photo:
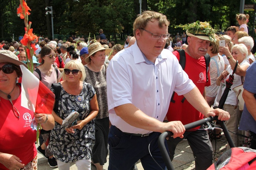
<path fill-rule="evenodd" d="M 196 21 L 184 25 L 180 24 L 179 26 L 175 26 L 175 28 L 182 28 L 183 30 L 186 30 L 186 34 L 188 36 L 197 37 L 199 39 L 208 41 L 216 41 L 214 35 L 218 32 L 218 30 L 213 29 L 206 21 Z"/>

